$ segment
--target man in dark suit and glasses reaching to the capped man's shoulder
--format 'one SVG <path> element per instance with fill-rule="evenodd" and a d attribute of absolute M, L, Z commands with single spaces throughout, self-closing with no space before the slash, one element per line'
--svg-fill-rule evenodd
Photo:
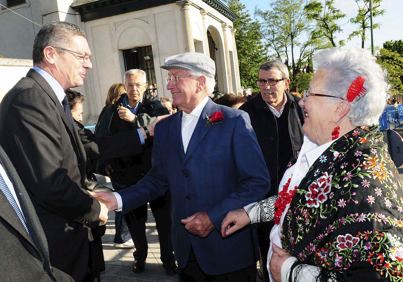
<path fill-rule="evenodd" d="M 0 104 L 0 145 L 28 190 L 49 245 L 50 263 L 83 280 L 89 265 L 88 231 L 104 224 L 108 209 L 85 191 L 87 156 L 112 158 L 141 152 L 143 128 L 95 136 L 73 121 L 64 94 L 81 86 L 91 69 L 84 32 L 51 22 L 33 43 L 33 69 Z M 148 128 L 153 134 L 153 126 Z M 125 144 L 125 146 L 116 146 Z"/>

